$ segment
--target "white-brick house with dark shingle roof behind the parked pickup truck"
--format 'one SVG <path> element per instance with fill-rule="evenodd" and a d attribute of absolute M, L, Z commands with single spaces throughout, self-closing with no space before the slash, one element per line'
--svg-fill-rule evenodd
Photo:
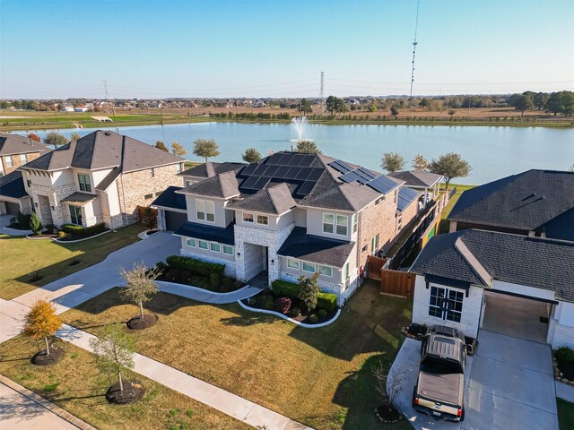
<path fill-rule="evenodd" d="M 413 323 L 574 348 L 573 267 L 569 241 L 477 229 L 435 236 L 410 269 Z"/>

